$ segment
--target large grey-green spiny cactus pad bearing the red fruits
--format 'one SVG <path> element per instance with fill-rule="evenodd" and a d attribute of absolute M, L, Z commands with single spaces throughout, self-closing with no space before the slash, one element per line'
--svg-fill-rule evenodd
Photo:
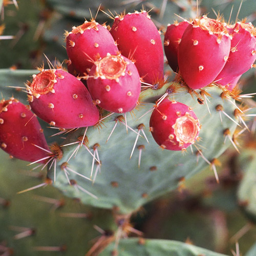
<path fill-rule="evenodd" d="M 143 101 L 153 102 L 153 99 L 158 98 L 165 92 L 169 84 L 159 91 L 147 90 Z M 220 113 L 216 111 L 216 106 L 222 104 L 225 112 L 233 117 L 234 106 L 229 101 L 223 101 L 220 97 L 220 90 L 209 90 L 212 98 L 209 104 L 209 114 L 206 105 L 200 105 L 195 98 L 192 98 L 188 93 L 178 93 L 175 95 L 175 100 L 192 106 L 197 117 L 200 119 L 202 129 L 199 136 L 201 141 L 198 145 L 206 159 L 211 161 L 218 158 L 225 149 L 229 146 L 229 141 L 226 139 L 224 144 L 223 132 L 225 129 L 230 130 L 230 136 L 236 129 L 236 124 L 229 118 L 222 114 L 223 122 L 220 119 Z M 145 125 L 144 132 L 149 144 L 145 138 L 139 137 L 137 145 L 134 150 L 132 159 L 130 155 L 137 134 L 130 131 L 126 134 L 124 123 L 117 122 L 116 129 L 106 143 L 114 125 L 116 124 L 115 116 L 112 115 L 106 120 L 102 129 L 98 130 L 95 127 L 89 127 L 87 137 L 89 139 L 89 148 L 93 153 L 92 147 L 98 143 L 97 148 L 99 159 L 102 161 L 101 173 L 98 174 L 95 183 L 86 180 L 73 172 L 69 172 L 69 179 L 76 180 L 78 185 L 87 189 L 90 193 L 98 199 L 76 189 L 77 186 L 69 185 L 66 172 L 61 169 L 61 164 L 68 161 L 78 144 L 63 146 L 63 158 L 57 163 L 56 169 L 56 183 L 54 186 L 58 187 L 63 193 L 69 197 L 78 197 L 84 204 L 93 205 L 102 208 L 112 208 L 118 206 L 122 214 L 126 214 L 138 209 L 141 205 L 151 201 L 168 191 L 176 189 L 180 180 L 189 178 L 194 174 L 200 172 L 208 163 L 202 159 L 201 155 L 196 156 L 197 149 L 195 146 L 194 154 L 191 153 L 190 148 L 187 152 L 172 152 L 162 150 L 154 141 L 148 127 L 150 113 L 138 120 L 140 116 L 146 113 L 153 107 L 153 103 L 145 103 L 141 110 L 134 111 L 131 116 L 127 114 L 127 124 L 138 132 L 137 126 L 141 123 Z M 84 129 L 80 129 L 68 137 L 63 144 L 69 144 L 77 141 L 79 136 L 84 134 Z M 142 136 L 143 134 L 140 133 Z M 138 168 L 138 158 L 140 150 L 138 145 L 144 145 L 141 150 L 141 164 Z M 93 157 L 82 146 L 76 158 L 73 157 L 69 161 L 69 167 L 77 173 L 90 177 Z M 94 165 L 94 172 L 96 169 Z M 54 180 L 54 168 L 49 171 L 49 177 Z M 210 170 L 209 170 L 210 172 Z M 93 178 L 93 176 L 92 176 Z"/>

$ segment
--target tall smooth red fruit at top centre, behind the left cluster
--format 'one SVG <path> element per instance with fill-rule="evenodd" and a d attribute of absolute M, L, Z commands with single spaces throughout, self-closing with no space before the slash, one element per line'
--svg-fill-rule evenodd
<path fill-rule="evenodd" d="M 110 32 L 121 54 L 135 60 L 143 81 L 150 84 L 163 81 L 162 41 L 146 11 L 116 16 Z"/>

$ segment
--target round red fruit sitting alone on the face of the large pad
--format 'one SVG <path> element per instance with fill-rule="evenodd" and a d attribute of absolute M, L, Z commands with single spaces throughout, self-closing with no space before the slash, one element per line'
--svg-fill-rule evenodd
<path fill-rule="evenodd" d="M 150 131 L 162 148 L 180 151 L 195 143 L 200 124 L 189 106 L 165 99 L 151 115 Z"/>

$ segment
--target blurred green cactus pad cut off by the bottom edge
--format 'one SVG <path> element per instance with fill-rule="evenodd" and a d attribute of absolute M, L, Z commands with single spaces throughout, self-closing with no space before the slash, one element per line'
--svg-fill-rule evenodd
<path fill-rule="evenodd" d="M 114 243 L 109 245 L 99 256 L 111 256 Z M 224 256 L 224 254 L 212 252 L 194 245 L 178 241 L 157 239 L 122 239 L 118 245 L 119 256 Z"/>

